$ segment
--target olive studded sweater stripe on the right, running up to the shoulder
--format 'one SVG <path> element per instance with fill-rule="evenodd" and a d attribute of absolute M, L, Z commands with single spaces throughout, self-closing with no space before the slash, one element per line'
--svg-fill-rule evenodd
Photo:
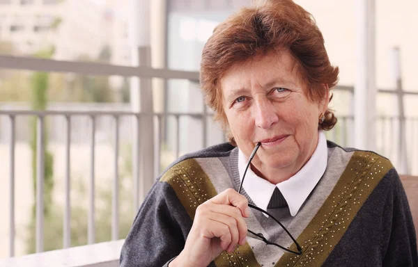
<path fill-rule="evenodd" d="M 355 152 L 332 193 L 298 236 L 300 256 L 286 253 L 275 266 L 322 266 L 379 181 L 392 168 L 371 152 Z M 295 245 L 291 245 L 295 250 Z"/>

